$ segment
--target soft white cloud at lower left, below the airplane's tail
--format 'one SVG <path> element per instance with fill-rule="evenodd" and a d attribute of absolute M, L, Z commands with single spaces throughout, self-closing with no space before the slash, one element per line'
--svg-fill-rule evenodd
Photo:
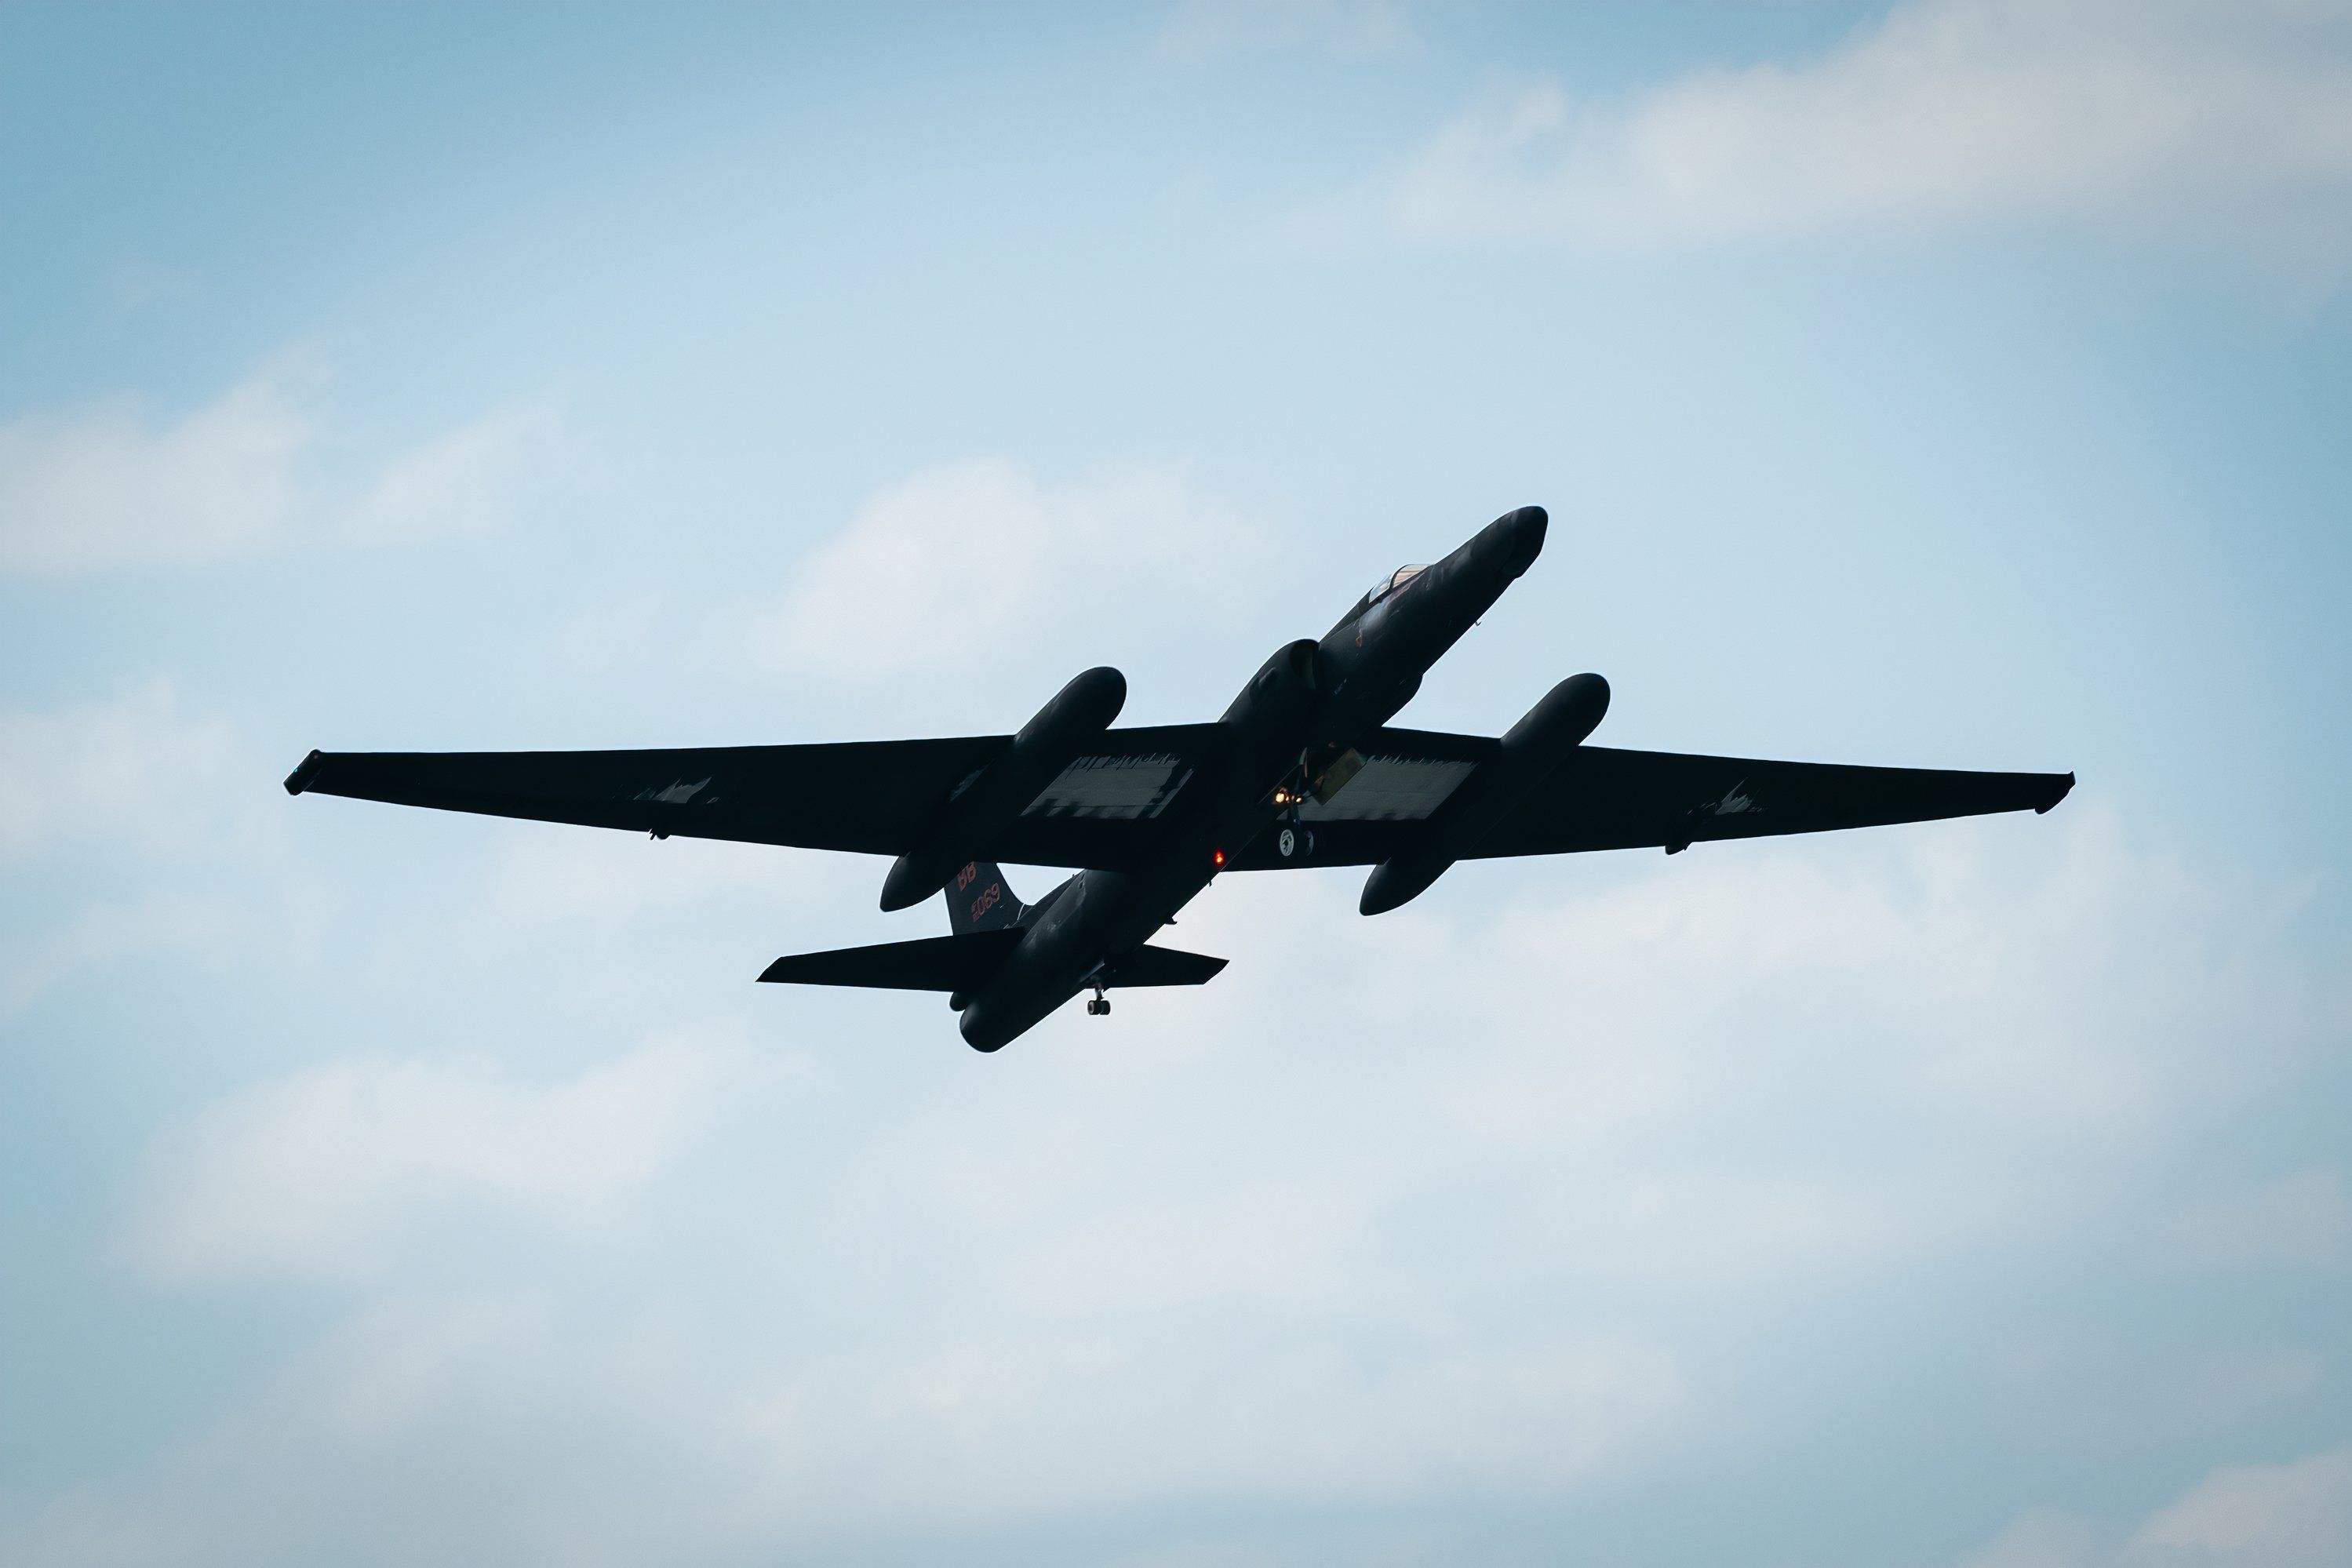
<path fill-rule="evenodd" d="M 167 1279 L 355 1276 L 433 1213 L 597 1227 L 652 1180 L 734 1058 L 647 1046 L 557 1084 L 475 1060 L 339 1060 L 167 1128 L 132 1255 Z"/>

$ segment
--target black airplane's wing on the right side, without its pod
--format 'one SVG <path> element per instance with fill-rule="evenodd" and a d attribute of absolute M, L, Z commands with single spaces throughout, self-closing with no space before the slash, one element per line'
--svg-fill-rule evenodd
<path fill-rule="evenodd" d="M 1315 853 L 1305 865 L 1376 865 L 1411 844 L 1418 823 L 1496 752 L 1484 736 L 1383 729 L 1364 769 L 1327 804 L 1308 806 Z M 1583 745 L 1470 851 L 1562 856 L 1588 849 L 1682 849 L 1990 811 L 2049 811 L 2072 773 L 1962 773 L 1832 762 L 1762 762 Z M 1284 865 L 1272 835 L 1235 856 L 1235 870 Z"/>

